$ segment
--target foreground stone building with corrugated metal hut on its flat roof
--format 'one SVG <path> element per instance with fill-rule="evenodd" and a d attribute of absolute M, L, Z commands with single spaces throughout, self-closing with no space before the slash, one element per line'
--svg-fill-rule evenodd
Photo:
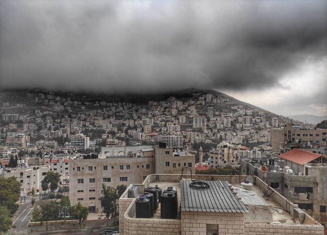
<path fill-rule="evenodd" d="M 249 176 L 241 176 L 242 182 Z M 319 234 L 317 220 L 289 203 L 259 177 L 250 176 L 250 190 L 240 187 L 230 176 L 193 175 L 204 187 L 191 187 L 192 181 L 181 175 L 149 175 L 142 184 L 133 184 L 119 198 L 119 233 L 123 235 L 263 235 Z M 178 217 L 161 218 L 165 205 L 151 218 L 136 218 L 136 199 L 146 187 L 163 190 L 174 185 L 180 208 Z M 251 184 L 252 185 L 252 184 Z M 265 200 L 261 192 L 269 193 Z M 265 196 L 267 198 L 267 196 Z M 279 210 L 276 209 L 280 208 Z M 277 211 L 278 210 L 278 211 Z M 281 212 L 279 212 L 281 211 Z M 281 213 L 281 214 L 280 214 Z M 260 216 L 258 216 L 260 215 Z M 299 224 L 294 220 L 300 217 Z"/>

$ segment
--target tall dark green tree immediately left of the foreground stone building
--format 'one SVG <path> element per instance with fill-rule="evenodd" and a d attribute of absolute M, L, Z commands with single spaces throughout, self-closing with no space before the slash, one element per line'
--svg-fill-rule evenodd
<path fill-rule="evenodd" d="M 107 218 L 107 226 L 108 226 L 108 221 L 109 217 L 115 216 L 116 209 L 117 209 L 117 204 L 116 200 L 120 197 L 118 195 L 118 190 L 119 193 L 123 193 L 126 190 L 124 190 L 125 185 L 119 185 L 117 188 L 113 188 L 111 186 L 106 186 L 105 184 L 102 184 L 102 190 L 103 190 L 103 196 L 99 197 L 99 201 L 101 202 L 101 207 L 103 208 L 102 211 L 106 214 Z"/>

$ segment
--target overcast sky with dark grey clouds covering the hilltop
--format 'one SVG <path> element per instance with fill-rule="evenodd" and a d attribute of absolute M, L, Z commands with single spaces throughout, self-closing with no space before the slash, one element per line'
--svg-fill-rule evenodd
<path fill-rule="evenodd" d="M 327 115 L 327 1 L 0 1 L 0 86 L 215 88 Z"/>

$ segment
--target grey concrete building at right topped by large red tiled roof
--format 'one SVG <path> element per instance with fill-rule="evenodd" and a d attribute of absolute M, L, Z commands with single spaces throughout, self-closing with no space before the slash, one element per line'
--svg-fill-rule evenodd
<path fill-rule="evenodd" d="M 327 158 L 300 149 L 269 156 L 275 159 L 278 165 L 280 160 L 284 160 L 282 165 L 273 166 L 277 171 L 269 171 L 272 167 L 268 166 L 268 162 L 268 171 L 264 172 L 249 160 L 241 160 L 242 174 L 258 176 L 292 203 L 298 204 L 314 219 L 319 220 L 327 229 Z"/>

